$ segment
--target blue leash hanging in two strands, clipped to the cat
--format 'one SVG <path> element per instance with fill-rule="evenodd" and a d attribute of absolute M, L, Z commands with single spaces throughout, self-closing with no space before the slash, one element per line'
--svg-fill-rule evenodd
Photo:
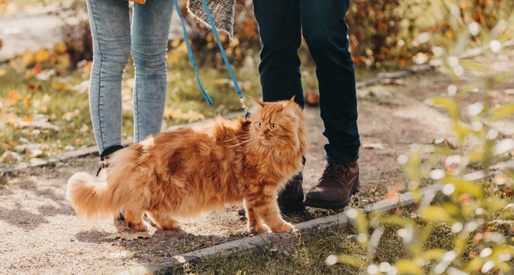
<path fill-rule="evenodd" d="M 188 34 L 186 31 L 186 24 L 184 23 L 184 19 L 182 16 L 182 12 L 180 11 L 180 7 L 178 6 L 177 0 L 173 0 L 173 3 L 175 5 L 175 9 L 177 10 L 178 17 L 180 17 L 180 23 L 182 23 L 182 32 L 184 33 L 184 40 L 186 41 L 186 47 L 188 48 L 188 56 L 189 60 L 191 61 L 191 64 L 193 65 L 193 69 L 196 76 L 196 82 L 198 83 L 198 87 L 200 87 L 201 94 L 204 95 L 205 100 L 209 105 L 212 104 L 212 100 L 205 91 L 204 87 L 201 85 L 200 77 L 198 76 L 198 68 L 196 66 L 196 61 L 193 57 L 193 52 L 191 50 L 191 44 L 189 43 Z M 204 5 L 205 13 L 207 14 L 207 19 L 209 20 L 209 24 L 211 25 L 212 32 L 214 33 L 214 38 L 216 38 L 216 42 L 218 44 L 219 50 L 222 53 L 223 60 L 225 61 L 225 65 L 227 66 L 228 73 L 230 75 L 230 78 L 232 79 L 232 82 L 234 83 L 235 91 L 237 92 L 237 96 L 239 97 L 239 101 L 241 102 L 241 106 L 246 112 L 245 118 L 247 118 L 250 113 L 248 112 L 248 107 L 245 105 L 245 98 L 243 97 L 243 93 L 241 93 L 241 89 L 239 88 L 239 85 L 237 84 L 237 80 L 235 79 L 234 72 L 232 71 L 232 67 L 230 66 L 230 62 L 228 61 L 227 54 L 225 53 L 225 49 L 223 48 L 222 42 L 219 39 L 218 31 L 216 30 L 216 25 L 214 24 L 214 19 L 212 18 L 211 11 L 209 10 L 209 7 L 207 6 L 206 0 L 201 0 L 201 3 Z"/>

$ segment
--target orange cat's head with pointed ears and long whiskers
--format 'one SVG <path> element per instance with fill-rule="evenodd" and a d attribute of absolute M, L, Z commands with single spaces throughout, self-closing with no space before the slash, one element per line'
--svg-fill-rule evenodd
<path fill-rule="evenodd" d="M 259 143 L 281 148 L 305 147 L 305 119 L 294 96 L 277 102 L 252 100 L 258 103 L 258 107 L 249 118 L 250 134 Z"/>

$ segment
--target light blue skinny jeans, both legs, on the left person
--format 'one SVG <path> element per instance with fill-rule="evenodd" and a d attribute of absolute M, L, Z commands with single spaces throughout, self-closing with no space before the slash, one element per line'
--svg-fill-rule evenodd
<path fill-rule="evenodd" d="M 121 144 L 121 80 L 131 53 L 135 67 L 134 141 L 160 132 L 173 2 L 148 0 L 144 5 L 134 4 L 132 28 L 128 2 L 124 0 L 87 0 L 87 10 L 94 44 L 89 108 L 102 153 Z"/>

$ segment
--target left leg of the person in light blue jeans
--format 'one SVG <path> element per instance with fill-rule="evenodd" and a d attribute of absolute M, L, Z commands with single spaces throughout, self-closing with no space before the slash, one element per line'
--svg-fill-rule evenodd
<path fill-rule="evenodd" d="M 89 108 L 102 153 L 121 145 L 121 79 L 130 54 L 130 14 L 125 1 L 87 0 L 87 9 L 93 34 Z"/>

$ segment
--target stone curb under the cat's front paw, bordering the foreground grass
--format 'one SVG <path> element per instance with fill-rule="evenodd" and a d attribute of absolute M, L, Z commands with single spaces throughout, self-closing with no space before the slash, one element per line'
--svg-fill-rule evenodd
<path fill-rule="evenodd" d="M 439 190 L 439 186 L 433 185 L 421 188 L 420 192 L 424 195 L 432 195 Z M 377 201 L 374 204 L 366 206 L 362 209 L 365 213 L 379 211 L 389 213 L 398 207 L 409 207 L 415 204 L 412 193 L 400 194 L 397 198 L 388 198 Z M 194 263 L 213 256 L 233 256 L 244 255 L 253 251 L 260 251 L 263 248 L 283 248 L 300 241 L 306 241 L 313 233 L 324 233 L 336 226 L 348 227 L 348 218 L 346 211 L 337 213 L 334 216 L 325 216 L 295 225 L 298 230 L 295 233 L 262 233 L 258 235 L 244 237 L 240 240 L 231 241 L 203 249 L 194 250 L 174 256 L 174 260 L 162 261 L 141 265 L 128 270 L 119 272 L 118 274 L 154 274 L 169 273 L 171 268 L 180 266 L 186 262 Z"/>

